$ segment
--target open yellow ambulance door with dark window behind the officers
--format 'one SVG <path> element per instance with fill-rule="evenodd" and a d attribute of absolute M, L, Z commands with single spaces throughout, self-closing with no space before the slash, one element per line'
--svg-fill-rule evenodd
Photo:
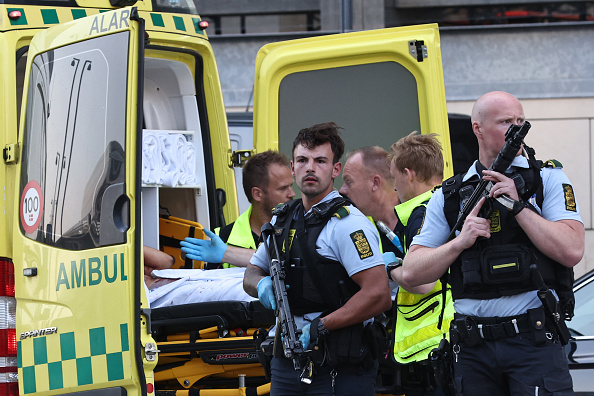
<path fill-rule="evenodd" d="M 436 24 L 268 44 L 254 84 L 257 152 L 278 148 L 290 157 L 300 129 L 328 121 L 344 128 L 346 152 L 389 150 L 416 130 L 439 135 L 445 176 L 452 174 Z"/>

